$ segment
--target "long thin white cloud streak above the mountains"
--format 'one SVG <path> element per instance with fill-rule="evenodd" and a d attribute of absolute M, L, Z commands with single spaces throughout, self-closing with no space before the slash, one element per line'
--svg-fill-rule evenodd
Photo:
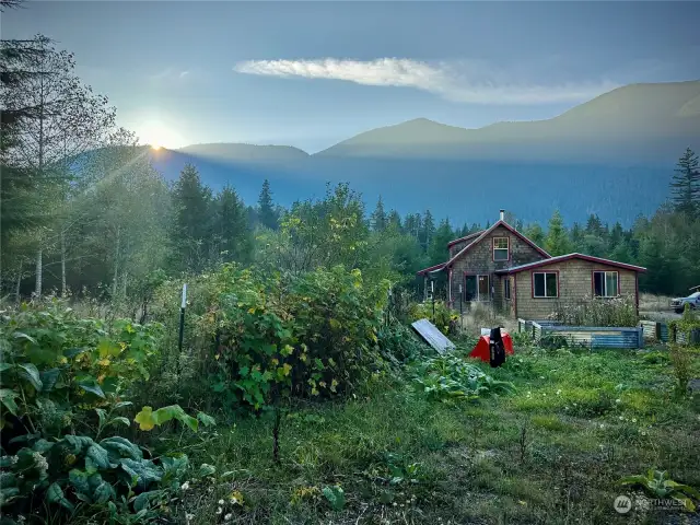
<path fill-rule="evenodd" d="M 536 68 L 537 69 L 537 68 Z M 363 85 L 413 88 L 448 101 L 470 104 L 547 104 L 581 102 L 620 84 L 596 82 L 544 83 L 533 78 L 524 65 L 511 71 L 475 60 L 428 62 L 408 58 L 349 60 L 247 60 L 234 71 L 267 77 L 334 79 Z M 540 77 L 546 75 L 541 71 Z M 535 75 L 536 77 L 536 75 Z"/>

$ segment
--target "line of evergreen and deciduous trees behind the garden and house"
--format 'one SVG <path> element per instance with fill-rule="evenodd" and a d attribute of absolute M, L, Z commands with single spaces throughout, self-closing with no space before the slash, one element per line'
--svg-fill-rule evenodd
<path fill-rule="evenodd" d="M 455 225 L 430 210 L 401 215 L 381 198 L 369 212 L 347 185 L 288 209 L 267 180 L 254 205 L 232 186 L 212 191 L 194 166 L 168 185 L 148 148 L 116 126 L 116 109 L 73 74 L 72 55 L 37 36 L 3 40 L 0 58 L 3 295 L 56 291 L 139 303 L 168 277 L 225 261 L 298 275 L 342 264 L 412 287 L 417 270 L 446 259 L 451 240 L 489 226 Z M 684 293 L 700 283 L 691 150 L 669 189 L 667 205 L 629 229 L 596 215 L 567 228 L 559 211 L 546 229 L 512 213 L 506 221 L 552 255 L 642 265 L 642 290 Z"/>

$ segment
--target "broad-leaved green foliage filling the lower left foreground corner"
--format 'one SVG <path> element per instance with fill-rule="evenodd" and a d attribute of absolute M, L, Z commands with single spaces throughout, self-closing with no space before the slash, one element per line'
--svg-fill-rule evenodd
<path fill-rule="evenodd" d="M 113 522 L 159 515 L 154 502 L 177 492 L 187 456 L 154 458 L 132 440 L 108 434 L 129 432 L 126 415 L 132 402 L 125 396 L 149 381 L 160 334 L 159 325 L 79 318 L 60 302 L 4 312 L 3 523 L 31 514 L 55 522 L 84 514 Z M 200 412 L 195 419 L 177 405 L 153 413 L 156 424 L 177 419 L 195 431 L 199 421 L 213 424 L 209 416 Z M 139 419 L 149 430 L 142 413 Z"/>

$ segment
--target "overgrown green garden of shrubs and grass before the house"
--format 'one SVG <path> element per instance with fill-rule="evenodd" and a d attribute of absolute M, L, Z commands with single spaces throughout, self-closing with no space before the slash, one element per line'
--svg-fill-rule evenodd
<path fill-rule="evenodd" d="M 424 346 L 424 308 L 386 281 L 229 264 L 189 280 L 180 352 L 180 290 L 160 284 L 143 325 L 3 308 L 3 524 L 697 518 L 697 349 L 515 334 L 490 369 L 444 308 L 457 350 Z"/>

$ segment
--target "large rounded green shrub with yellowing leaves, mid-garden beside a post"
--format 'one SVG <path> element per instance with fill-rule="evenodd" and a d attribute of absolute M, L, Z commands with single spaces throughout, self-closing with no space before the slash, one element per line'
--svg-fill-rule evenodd
<path fill-rule="evenodd" d="M 167 306 L 153 313 L 176 332 L 179 285 L 166 285 L 156 303 Z M 264 278 L 224 265 L 189 282 L 188 370 L 180 372 L 190 388 L 202 383 L 202 397 L 213 388 L 234 410 L 260 410 L 282 394 L 346 394 L 385 365 L 377 334 L 387 287 L 366 285 L 359 270 L 342 267 Z"/>

